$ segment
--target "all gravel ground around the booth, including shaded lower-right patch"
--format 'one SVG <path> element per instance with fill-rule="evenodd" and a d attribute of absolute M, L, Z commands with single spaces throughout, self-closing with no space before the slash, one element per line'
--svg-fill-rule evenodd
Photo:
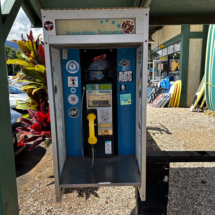
<path fill-rule="evenodd" d="M 215 118 L 188 108 L 148 105 L 147 111 L 147 150 L 214 150 Z M 29 183 L 18 187 L 21 215 L 135 214 L 134 187 L 67 189 L 56 203 L 52 154 L 35 169 Z M 168 215 L 215 214 L 215 163 L 172 163 L 169 180 Z"/>

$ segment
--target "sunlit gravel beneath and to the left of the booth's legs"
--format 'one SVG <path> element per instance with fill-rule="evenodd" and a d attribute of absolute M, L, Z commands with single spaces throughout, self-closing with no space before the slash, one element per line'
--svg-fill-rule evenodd
<path fill-rule="evenodd" d="M 43 164 L 36 177 L 19 192 L 20 215 L 135 214 L 134 187 L 70 188 L 57 203 L 52 165 L 52 160 L 46 167 Z"/>

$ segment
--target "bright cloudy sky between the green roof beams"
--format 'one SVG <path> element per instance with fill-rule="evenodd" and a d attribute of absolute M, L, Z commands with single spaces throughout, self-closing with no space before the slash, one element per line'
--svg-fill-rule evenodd
<path fill-rule="evenodd" d="M 0 0 L 1 5 L 4 3 L 5 0 Z M 24 38 L 26 37 L 26 33 L 29 34 L 30 30 L 33 31 L 33 36 L 36 39 L 39 34 L 43 34 L 42 28 L 31 28 L 31 23 L 28 17 L 25 15 L 25 12 L 21 8 L 19 10 L 19 13 L 15 19 L 15 22 L 13 23 L 13 26 L 10 30 L 10 33 L 7 37 L 7 40 L 11 41 L 13 39 L 20 40 L 21 34 L 23 33 Z M 43 38 L 43 36 L 41 36 Z"/>

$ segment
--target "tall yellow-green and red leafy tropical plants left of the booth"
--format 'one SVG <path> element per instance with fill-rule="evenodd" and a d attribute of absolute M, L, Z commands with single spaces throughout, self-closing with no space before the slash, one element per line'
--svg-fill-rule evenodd
<path fill-rule="evenodd" d="M 21 90 L 25 91 L 29 98 L 26 101 L 16 101 L 17 109 L 28 111 L 19 118 L 26 127 L 19 127 L 17 130 L 22 133 L 22 137 L 32 135 L 18 143 L 18 146 L 21 146 L 33 142 L 28 149 L 31 150 L 41 143 L 44 143 L 45 147 L 51 144 L 46 63 L 44 43 L 40 39 L 40 35 L 34 40 L 32 31 L 30 31 L 30 34 L 27 34 L 28 40 L 25 40 L 23 35 L 21 38 L 22 40 L 12 41 L 16 42 L 22 50 L 22 59 L 8 59 L 7 64 L 19 65 L 22 73 L 18 75 L 16 82 L 27 83 Z"/>

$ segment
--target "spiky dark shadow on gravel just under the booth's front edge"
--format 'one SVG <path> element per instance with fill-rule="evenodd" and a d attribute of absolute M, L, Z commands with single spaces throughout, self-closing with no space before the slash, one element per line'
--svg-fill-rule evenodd
<path fill-rule="evenodd" d="M 96 192 L 96 191 L 98 191 L 98 189 L 99 189 L 98 187 L 66 188 L 64 191 L 64 194 L 77 192 L 78 193 L 77 197 L 83 198 L 85 196 L 85 198 L 87 200 L 90 198 L 90 195 L 93 195 L 93 196 L 99 198 L 99 195 Z"/>

